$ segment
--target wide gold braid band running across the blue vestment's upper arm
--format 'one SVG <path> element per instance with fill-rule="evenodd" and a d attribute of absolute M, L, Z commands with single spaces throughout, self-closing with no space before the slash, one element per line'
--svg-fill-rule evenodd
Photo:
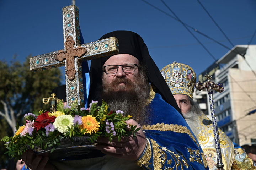
<path fill-rule="evenodd" d="M 197 143 L 196 138 L 192 135 L 192 133 L 190 132 L 190 130 L 187 129 L 186 126 L 182 126 L 182 125 L 174 125 L 174 124 L 164 124 L 164 123 L 157 123 L 155 125 L 143 125 L 142 126 L 143 130 L 158 130 L 158 131 L 172 131 L 172 132 L 176 132 L 176 133 L 186 133 L 187 135 L 189 135 L 193 141 L 197 144 L 197 146 L 199 147 L 199 144 Z M 200 147 L 199 147 L 200 148 Z"/>

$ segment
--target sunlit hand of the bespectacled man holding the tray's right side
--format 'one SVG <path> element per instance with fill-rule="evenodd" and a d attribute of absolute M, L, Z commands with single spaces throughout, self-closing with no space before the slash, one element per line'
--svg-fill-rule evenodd
<path fill-rule="evenodd" d="M 133 119 L 127 120 L 128 125 L 140 125 Z M 96 149 L 101 150 L 102 153 L 110 155 L 116 158 L 123 158 L 126 160 L 137 160 L 140 158 L 146 147 L 146 136 L 142 129 L 136 132 L 136 139 L 133 136 L 123 137 L 118 142 L 117 138 L 114 138 L 112 142 L 108 141 L 108 138 L 98 138 L 98 144 Z"/>

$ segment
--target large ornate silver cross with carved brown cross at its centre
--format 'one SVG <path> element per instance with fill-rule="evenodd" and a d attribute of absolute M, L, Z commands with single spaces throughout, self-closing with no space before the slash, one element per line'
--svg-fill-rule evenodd
<path fill-rule="evenodd" d="M 80 45 L 78 7 L 64 7 L 62 16 L 64 49 L 31 57 L 30 70 L 38 72 L 65 66 L 67 102 L 77 100 L 81 104 L 84 102 L 82 61 L 118 54 L 118 39 L 110 37 Z"/>

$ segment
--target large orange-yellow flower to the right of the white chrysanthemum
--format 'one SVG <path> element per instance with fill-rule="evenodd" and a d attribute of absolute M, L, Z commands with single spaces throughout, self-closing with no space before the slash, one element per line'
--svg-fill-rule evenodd
<path fill-rule="evenodd" d="M 95 117 L 92 117 L 92 115 L 87 115 L 82 117 L 82 125 L 81 128 L 86 129 L 87 131 L 85 133 L 96 133 L 99 130 L 100 123 L 97 122 Z M 85 134 L 84 133 L 84 134 Z"/>

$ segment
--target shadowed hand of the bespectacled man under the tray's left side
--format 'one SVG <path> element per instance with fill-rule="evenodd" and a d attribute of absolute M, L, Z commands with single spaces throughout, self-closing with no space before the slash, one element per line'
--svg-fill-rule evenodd
<path fill-rule="evenodd" d="M 32 170 L 54 170 L 52 164 L 48 163 L 49 157 L 36 156 L 31 150 L 22 154 L 22 160 Z"/>

